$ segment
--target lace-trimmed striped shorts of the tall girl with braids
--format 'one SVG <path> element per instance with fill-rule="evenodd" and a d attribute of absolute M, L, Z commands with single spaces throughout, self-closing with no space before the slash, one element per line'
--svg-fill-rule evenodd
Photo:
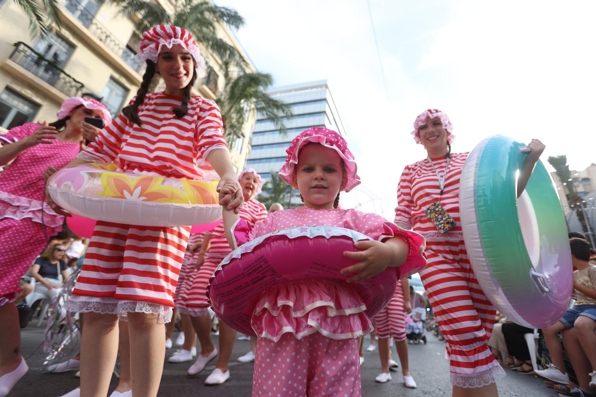
<path fill-rule="evenodd" d="M 98 221 L 65 307 L 126 317 L 159 314 L 170 321 L 190 227 L 148 227 Z"/>

